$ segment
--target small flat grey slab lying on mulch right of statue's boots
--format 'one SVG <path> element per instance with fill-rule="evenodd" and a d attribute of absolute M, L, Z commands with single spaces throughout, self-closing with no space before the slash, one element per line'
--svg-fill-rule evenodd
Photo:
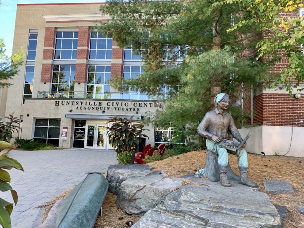
<path fill-rule="evenodd" d="M 292 194 L 295 189 L 287 181 L 264 180 L 265 192 L 271 194 Z"/>

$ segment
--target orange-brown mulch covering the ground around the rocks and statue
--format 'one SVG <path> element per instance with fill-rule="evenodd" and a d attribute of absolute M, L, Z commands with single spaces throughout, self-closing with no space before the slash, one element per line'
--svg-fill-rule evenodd
<path fill-rule="evenodd" d="M 288 181 L 296 190 L 295 194 L 267 194 L 273 204 L 286 206 L 288 216 L 286 228 L 300 228 L 304 226 L 304 215 L 300 214 L 297 207 L 304 207 L 304 158 L 247 154 L 248 175 L 264 192 L 263 180 Z M 162 161 L 149 163 L 155 170 L 163 170 L 169 177 L 180 177 L 194 174 L 199 168 L 203 168 L 206 159 L 206 150 L 192 151 Z M 229 155 L 229 163 L 238 174 L 237 157 Z M 185 184 L 196 185 L 192 181 L 185 180 Z M 140 218 L 124 213 L 115 204 L 116 195 L 108 192 L 102 205 L 102 216 L 98 216 L 94 228 L 122 228 L 128 227 L 125 223 L 136 223 Z M 55 201 L 56 202 L 56 201 Z"/>

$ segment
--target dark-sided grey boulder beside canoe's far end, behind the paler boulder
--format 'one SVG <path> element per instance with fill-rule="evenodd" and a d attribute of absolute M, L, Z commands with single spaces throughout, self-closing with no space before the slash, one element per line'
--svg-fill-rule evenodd
<path fill-rule="evenodd" d="M 154 167 L 150 165 L 110 165 L 107 171 L 107 181 L 109 182 L 109 192 L 117 195 L 117 190 L 121 183 L 127 178 L 143 177 L 152 173 Z"/>

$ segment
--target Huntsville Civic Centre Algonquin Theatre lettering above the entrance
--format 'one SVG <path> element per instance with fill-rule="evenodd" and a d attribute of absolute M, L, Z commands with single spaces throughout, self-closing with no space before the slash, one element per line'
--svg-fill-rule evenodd
<path fill-rule="evenodd" d="M 126 101 L 55 101 L 55 106 L 74 106 L 76 110 L 138 112 L 141 108 L 164 108 L 164 103 Z"/>

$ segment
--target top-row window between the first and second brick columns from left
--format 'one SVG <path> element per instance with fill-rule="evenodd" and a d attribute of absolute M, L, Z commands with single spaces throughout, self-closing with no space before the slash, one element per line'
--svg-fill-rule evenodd
<path fill-rule="evenodd" d="M 54 59 L 76 59 L 78 32 L 57 32 Z"/>

